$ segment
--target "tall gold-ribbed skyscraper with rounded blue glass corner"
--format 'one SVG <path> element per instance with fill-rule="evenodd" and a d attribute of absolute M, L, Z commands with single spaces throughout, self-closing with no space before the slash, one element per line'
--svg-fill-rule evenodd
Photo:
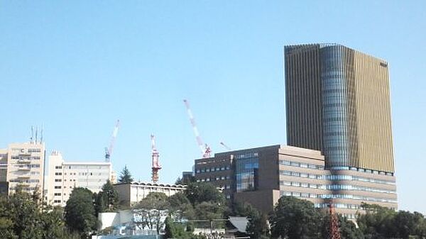
<path fill-rule="evenodd" d="M 329 169 L 393 174 L 388 63 L 337 44 L 285 47 L 288 145 Z"/>

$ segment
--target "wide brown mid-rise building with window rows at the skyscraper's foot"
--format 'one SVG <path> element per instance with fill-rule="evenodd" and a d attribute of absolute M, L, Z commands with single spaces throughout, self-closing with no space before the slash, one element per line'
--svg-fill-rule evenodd
<path fill-rule="evenodd" d="M 227 199 L 268 213 L 280 196 L 312 201 L 320 208 L 333 199 L 337 212 L 354 218 L 361 203 L 396 209 L 395 177 L 366 169 L 325 169 L 320 151 L 273 145 L 195 160 L 197 182 L 224 189 Z"/>

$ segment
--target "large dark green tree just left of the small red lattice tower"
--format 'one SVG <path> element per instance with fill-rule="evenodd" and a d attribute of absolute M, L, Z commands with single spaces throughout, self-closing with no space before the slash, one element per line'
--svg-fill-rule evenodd
<path fill-rule="evenodd" d="M 273 238 L 320 238 L 322 213 L 312 202 L 282 196 L 270 218 Z"/>

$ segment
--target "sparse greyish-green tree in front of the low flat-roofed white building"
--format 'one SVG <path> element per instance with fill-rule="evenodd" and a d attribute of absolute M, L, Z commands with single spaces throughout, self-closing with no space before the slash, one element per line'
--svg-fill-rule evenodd
<path fill-rule="evenodd" d="M 151 192 L 133 207 L 133 213 L 140 218 L 140 221 L 135 223 L 141 228 L 155 229 L 159 234 L 160 229 L 164 226 L 161 218 L 168 215 L 169 208 L 170 203 L 164 193 Z"/>

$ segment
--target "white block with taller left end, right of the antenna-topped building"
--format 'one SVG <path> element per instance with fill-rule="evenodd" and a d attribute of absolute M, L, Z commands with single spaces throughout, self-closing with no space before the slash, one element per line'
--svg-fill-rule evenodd
<path fill-rule="evenodd" d="M 49 155 L 48 204 L 65 206 L 72 189 L 84 187 L 99 192 L 108 179 L 114 180 L 111 162 L 65 162 L 58 151 Z"/>

